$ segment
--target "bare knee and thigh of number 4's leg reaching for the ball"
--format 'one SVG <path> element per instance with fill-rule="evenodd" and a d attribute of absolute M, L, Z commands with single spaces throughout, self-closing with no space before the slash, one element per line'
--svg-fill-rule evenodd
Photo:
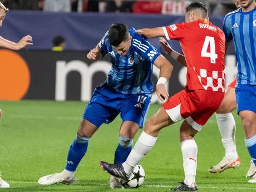
<path fill-rule="evenodd" d="M 144 131 L 146 134 L 157 137 L 159 131 L 175 122 L 170 119 L 169 115 L 162 106 L 155 115 L 147 121 Z"/>

